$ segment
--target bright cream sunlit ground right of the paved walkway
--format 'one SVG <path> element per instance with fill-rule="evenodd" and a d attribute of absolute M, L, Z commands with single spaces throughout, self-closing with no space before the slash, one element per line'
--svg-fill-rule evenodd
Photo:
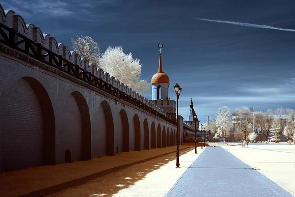
<path fill-rule="evenodd" d="M 239 145 L 223 148 L 295 196 L 295 145 L 249 144 L 249 148 Z"/>

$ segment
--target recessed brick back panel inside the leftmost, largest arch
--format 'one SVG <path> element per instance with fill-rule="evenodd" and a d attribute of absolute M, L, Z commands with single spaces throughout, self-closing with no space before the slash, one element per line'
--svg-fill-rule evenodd
<path fill-rule="evenodd" d="M 2 171 L 42 165 L 42 113 L 24 79 L 16 81 L 1 111 Z"/>

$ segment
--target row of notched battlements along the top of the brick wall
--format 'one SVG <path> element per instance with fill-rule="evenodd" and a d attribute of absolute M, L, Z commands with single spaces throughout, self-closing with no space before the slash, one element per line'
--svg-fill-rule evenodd
<path fill-rule="evenodd" d="M 156 110 L 157 112 L 165 115 L 163 109 L 143 97 L 142 95 L 138 94 L 136 91 L 129 88 L 124 83 L 121 83 L 118 79 L 113 76 L 110 76 L 109 73 L 104 72 L 101 68 L 98 68 L 97 65 L 93 63 L 89 63 L 87 60 L 82 58 L 79 54 L 74 51 L 71 51 L 66 45 L 63 43 L 58 43 L 57 40 L 52 37 L 50 34 L 45 34 L 42 30 L 35 26 L 32 23 L 26 24 L 25 20 L 21 15 L 15 14 L 13 10 L 4 10 L 2 5 L 0 4 L 0 23 L 4 24 L 9 28 L 13 28 L 14 31 L 24 35 L 25 37 L 33 40 L 36 43 L 41 44 L 46 49 L 62 56 L 62 58 L 66 59 L 67 61 L 85 69 L 88 72 L 91 72 L 94 76 L 101 78 L 103 81 L 111 84 L 112 86 L 118 88 L 120 91 L 125 92 L 126 94 L 130 95 L 131 97 L 143 102 L 144 104 L 148 105 L 152 109 Z M 7 36 L 9 33 L 7 30 L 4 30 Z M 3 38 L 0 35 L 0 38 Z M 15 39 L 20 39 L 16 37 Z M 21 41 L 21 40 L 15 40 Z M 25 49 L 25 43 L 19 44 L 20 48 Z M 29 49 L 31 50 L 31 49 Z M 48 57 L 45 57 L 48 58 Z"/>

